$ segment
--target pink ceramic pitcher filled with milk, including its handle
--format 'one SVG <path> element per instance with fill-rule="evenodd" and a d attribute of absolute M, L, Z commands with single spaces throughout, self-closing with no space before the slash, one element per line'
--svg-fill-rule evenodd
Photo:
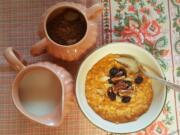
<path fill-rule="evenodd" d="M 25 66 L 11 47 L 4 57 L 18 74 L 12 84 L 12 98 L 27 118 L 47 126 L 59 126 L 73 105 L 72 76 L 60 66 L 39 62 Z"/>

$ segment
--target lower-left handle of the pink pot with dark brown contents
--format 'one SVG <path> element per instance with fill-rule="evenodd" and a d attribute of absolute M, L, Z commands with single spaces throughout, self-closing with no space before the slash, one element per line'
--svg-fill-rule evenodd
<path fill-rule="evenodd" d="M 32 56 L 39 56 L 43 53 L 46 53 L 47 45 L 49 44 L 46 38 L 41 39 L 39 42 L 35 43 L 31 48 L 31 55 Z"/>

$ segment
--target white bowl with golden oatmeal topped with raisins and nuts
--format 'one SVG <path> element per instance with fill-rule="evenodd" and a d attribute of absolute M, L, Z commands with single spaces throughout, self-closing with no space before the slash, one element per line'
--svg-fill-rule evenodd
<path fill-rule="evenodd" d="M 155 58 L 130 43 L 111 43 L 89 55 L 76 80 L 76 97 L 85 116 L 113 133 L 136 132 L 150 125 L 166 100 L 166 87 L 145 76 L 133 57 L 163 77 Z"/>

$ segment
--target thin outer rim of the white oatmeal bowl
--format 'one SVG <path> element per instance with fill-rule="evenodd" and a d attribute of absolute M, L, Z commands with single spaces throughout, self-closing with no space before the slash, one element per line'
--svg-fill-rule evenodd
<path fill-rule="evenodd" d="M 77 90 L 77 89 L 78 89 L 78 88 L 77 88 L 77 86 L 78 86 L 78 85 L 77 85 L 77 80 L 78 80 L 78 78 L 79 78 L 79 73 L 80 73 L 79 71 L 80 71 L 82 65 L 85 63 L 85 61 L 87 60 L 87 58 L 90 57 L 90 56 L 92 56 L 92 55 L 94 55 L 95 52 L 99 51 L 100 49 L 102 49 L 102 48 L 104 48 L 104 47 L 111 46 L 111 45 L 114 45 L 114 44 L 133 45 L 133 46 L 135 46 L 135 47 L 137 47 L 137 48 L 140 48 L 141 50 L 144 50 L 148 55 L 153 56 L 150 52 L 148 52 L 147 50 L 145 50 L 145 49 L 143 49 L 142 47 L 138 46 L 137 44 L 133 44 L 133 43 L 129 43 L 129 42 L 112 42 L 112 43 L 108 43 L 108 44 L 105 44 L 105 45 L 99 47 L 98 49 L 96 49 L 95 51 L 93 51 L 92 53 L 90 53 L 89 55 L 87 55 L 87 57 L 83 60 L 83 62 L 82 62 L 82 63 L 80 64 L 80 66 L 79 66 L 79 69 L 78 69 L 78 72 L 77 72 L 77 76 L 76 76 L 76 85 L 75 85 L 76 100 L 77 100 L 78 106 L 79 106 L 82 114 L 83 114 L 83 115 L 87 118 L 87 120 L 88 120 L 90 123 L 92 123 L 95 127 L 99 128 L 99 129 L 102 129 L 103 131 L 106 131 L 106 132 L 109 132 L 109 133 L 115 133 L 115 134 L 116 134 L 116 133 L 120 133 L 120 134 L 135 133 L 135 132 L 141 131 L 141 130 L 143 130 L 143 129 L 146 129 L 148 126 L 150 126 L 153 122 L 155 122 L 155 121 L 158 119 L 158 117 L 160 116 L 160 114 L 161 114 L 161 112 L 162 112 L 162 110 L 163 110 L 163 107 L 164 107 L 164 105 L 165 105 L 165 103 L 166 103 L 166 100 L 167 100 L 167 86 L 165 86 L 165 87 L 163 88 L 163 90 L 165 91 L 165 94 L 164 94 L 165 97 L 164 97 L 164 101 L 163 101 L 162 108 L 161 108 L 160 112 L 157 114 L 157 116 L 156 116 L 147 126 L 145 126 L 145 127 L 143 127 L 143 128 L 140 128 L 140 129 L 137 129 L 136 131 L 132 131 L 132 132 L 131 132 L 131 131 L 130 131 L 130 132 L 116 132 L 116 131 L 104 129 L 104 128 L 98 126 L 98 124 L 96 124 L 96 123 L 94 123 L 93 121 L 91 121 L 91 119 L 88 117 L 88 114 L 86 114 L 86 112 L 82 109 L 83 107 L 81 107 L 80 102 L 79 102 L 79 98 L 78 98 L 78 96 L 77 96 L 77 93 L 78 93 L 78 90 Z M 154 57 L 154 56 L 153 56 L 153 57 Z M 159 65 L 159 63 L 157 62 L 157 60 L 156 60 L 155 58 L 154 58 L 154 60 L 155 60 L 155 62 L 158 64 L 158 66 L 160 67 L 160 71 L 161 71 L 162 77 L 166 80 L 165 74 L 164 74 L 161 66 Z M 97 115 L 98 115 L 98 114 L 97 114 Z M 106 120 L 106 121 L 107 121 L 107 120 Z"/>

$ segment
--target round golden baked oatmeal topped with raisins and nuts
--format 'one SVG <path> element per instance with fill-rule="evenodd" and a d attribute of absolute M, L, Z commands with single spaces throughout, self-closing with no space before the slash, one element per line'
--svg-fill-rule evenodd
<path fill-rule="evenodd" d="M 103 119 L 114 123 L 136 120 L 148 110 L 153 97 L 151 79 L 115 60 L 120 57 L 105 56 L 86 77 L 88 104 Z"/>

